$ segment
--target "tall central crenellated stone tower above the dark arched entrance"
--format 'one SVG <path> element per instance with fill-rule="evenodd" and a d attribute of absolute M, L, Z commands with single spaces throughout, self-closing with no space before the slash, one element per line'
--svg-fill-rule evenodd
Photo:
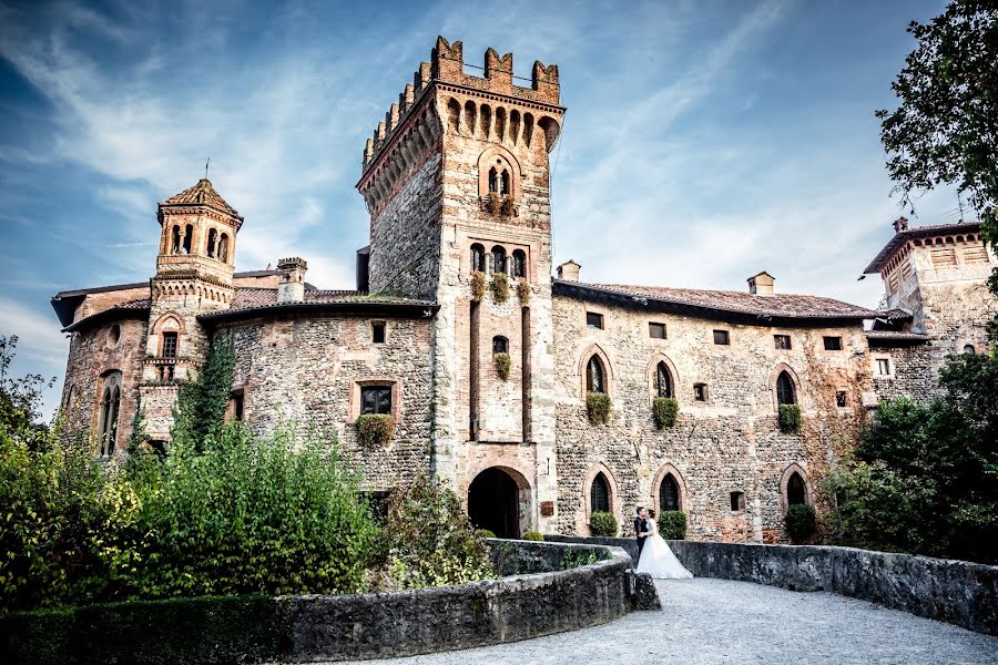
<path fill-rule="evenodd" d="M 557 65 L 534 62 L 521 86 L 512 54 L 488 49 L 481 70 L 438 38 L 367 141 L 357 188 L 369 289 L 440 305 L 434 473 L 475 518 L 477 484 L 501 468 L 519 495 L 502 530 L 519 533 L 554 518 L 549 154 L 564 109 Z"/>

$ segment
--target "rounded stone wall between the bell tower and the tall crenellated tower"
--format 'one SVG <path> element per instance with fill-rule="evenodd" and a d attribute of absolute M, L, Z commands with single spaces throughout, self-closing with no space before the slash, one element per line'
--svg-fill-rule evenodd
<path fill-rule="evenodd" d="M 386 323 L 385 342 L 371 321 Z M 432 349 L 428 319 L 267 317 L 221 328 L 234 336 L 233 386 L 244 418 L 259 432 L 282 420 L 335 430 L 361 464 L 365 485 L 387 490 L 429 472 Z M 396 430 L 384 448 L 357 442 L 360 385 L 395 386 Z"/>

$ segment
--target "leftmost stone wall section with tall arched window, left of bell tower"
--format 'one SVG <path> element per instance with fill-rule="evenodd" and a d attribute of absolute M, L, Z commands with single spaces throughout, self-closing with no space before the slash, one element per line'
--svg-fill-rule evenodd
<path fill-rule="evenodd" d="M 145 313 L 136 314 L 144 316 Z M 116 342 L 110 335 L 114 326 L 119 328 Z M 121 406 L 115 451 L 121 452 L 125 449 L 132 434 L 132 419 L 135 416 L 139 386 L 142 382 L 146 330 L 147 324 L 144 319 L 120 318 L 88 326 L 72 334 L 60 402 L 60 413 L 64 419 L 68 436 L 82 431 L 94 447 L 98 446 L 103 377 L 109 372 L 120 371 Z"/>

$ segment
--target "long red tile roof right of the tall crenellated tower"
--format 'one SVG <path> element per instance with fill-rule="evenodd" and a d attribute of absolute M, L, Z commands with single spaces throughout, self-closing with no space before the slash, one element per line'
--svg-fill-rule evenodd
<path fill-rule="evenodd" d="M 572 285 L 570 282 L 559 284 Z M 632 299 L 650 299 L 723 313 L 747 314 L 778 318 L 875 318 L 877 313 L 865 307 L 821 296 L 775 294 L 757 296 L 746 291 L 724 291 L 666 286 L 634 286 L 624 284 L 579 284 L 583 288 L 610 291 Z"/>

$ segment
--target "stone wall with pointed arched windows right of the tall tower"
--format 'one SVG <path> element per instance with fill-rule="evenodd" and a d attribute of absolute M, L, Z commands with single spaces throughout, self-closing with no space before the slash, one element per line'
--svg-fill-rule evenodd
<path fill-rule="evenodd" d="M 588 328 L 585 313 L 603 315 L 604 329 Z M 666 339 L 649 335 L 664 323 Z M 778 542 L 791 470 L 807 483 L 822 510 L 819 481 L 831 460 L 849 449 L 866 417 L 869 390 L 866 339 L 859 325 L 838 328 L 771 328 L 730 325 L 672 314 L 629 310 L 567 296 L 554 298 L 558 382 L 559 533 L 585 534 L 592 478 L 602 472 L 622 532 L 631 532 L 635 504 L 658 507 L 659 487 L 671 472 L 694 539 Z M 712 331 L 730 332 L 730 346 Z M 776 349 L 773 335 L 790 335 Z M 823 336 L 841 336 L 843 350 L 826 351 Z M 588 358 L 607 369 L 613 410 L 608 426 L 589 423 L 584 402 Z M 674 427 L 655 429 L 651 406 L 659 361 L 670 368 L 680 413 Z M 800 434 L 777 424 L 775 380 L 795 379 L 803 413 Z M 707 401 L 693 385 L 707 386 Z M 846 407 L 836 392 L 846 392 Z M 731 510 L 731 492 L 744 492 L 746 510 Z"/>

